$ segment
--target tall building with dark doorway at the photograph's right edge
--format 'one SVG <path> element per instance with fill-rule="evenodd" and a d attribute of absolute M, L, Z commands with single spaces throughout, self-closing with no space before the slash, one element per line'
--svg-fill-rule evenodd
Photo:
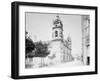
<path fill-rule="evenodd" d="M 82 55 L 83 63 L 90 64 L 90 18 L 89 15 L 82 16 Z"/>

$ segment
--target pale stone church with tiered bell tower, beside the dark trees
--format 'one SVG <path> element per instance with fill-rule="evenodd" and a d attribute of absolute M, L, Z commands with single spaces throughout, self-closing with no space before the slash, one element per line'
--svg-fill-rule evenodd
<path fill-rule="evenodd" d="M 50 54 L 45 59 L 48 65 L 60 64 L 73 60 L 71 55 L 71 38 L 68 36 L 67 39 L 64 39 L 63 31 L 63 23 L 59 16 L 56 16 L 52 27 L 52 40 L 48 42 Z"/>

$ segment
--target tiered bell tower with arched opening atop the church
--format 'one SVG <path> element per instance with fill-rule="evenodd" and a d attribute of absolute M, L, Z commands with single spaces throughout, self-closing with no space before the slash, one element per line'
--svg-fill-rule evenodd
<path fill-rule="evenodd" d="M 52 39 L 63 39 L 63 24 L 58 15 L 56 16 L 53 25 L 54 27 L 52 28 Z"/>

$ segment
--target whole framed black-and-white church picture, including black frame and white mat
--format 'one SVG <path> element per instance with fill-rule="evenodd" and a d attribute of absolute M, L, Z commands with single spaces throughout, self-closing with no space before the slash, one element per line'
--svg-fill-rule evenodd
<path fill-rule="evenodd" d="M 12 4 L 13 78 L 97 74 L 96 41 L 97 7 Z"/>

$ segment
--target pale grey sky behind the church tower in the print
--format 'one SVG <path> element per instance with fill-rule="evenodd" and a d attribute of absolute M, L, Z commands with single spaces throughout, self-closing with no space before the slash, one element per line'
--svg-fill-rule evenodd
<path fill-rule="evenodd" d="M 25 13 L 26 31 L 33 41 L 50 41 L 52 40 L 53 21 L 57 14 L 51 13 Z M 72 40 L 72 54 L 82 53 L 82 30 L 81 15 L 59 14 L 63 23 L 63 36 L 67 40 L 70 36 Z"/>

